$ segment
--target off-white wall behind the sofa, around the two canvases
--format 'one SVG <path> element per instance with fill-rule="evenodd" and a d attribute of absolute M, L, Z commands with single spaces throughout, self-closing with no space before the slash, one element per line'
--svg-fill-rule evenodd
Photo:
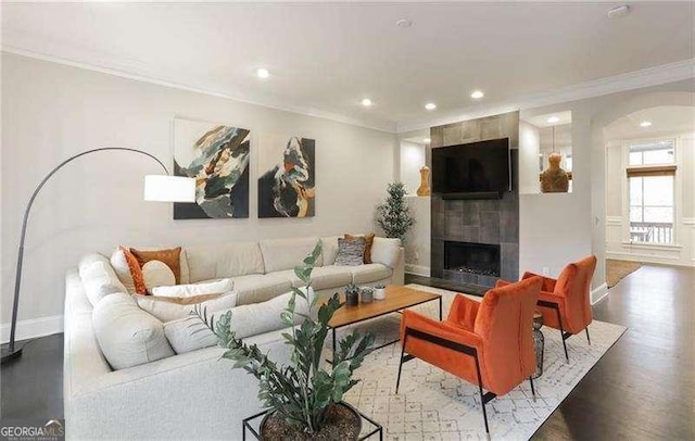
<path fill-rule="evenodd" d="M 122 243 L 170 247 L 376 228 L 375 206 L 396 169 L 393 134 L 3 54 L 2 261 L 16 259 L 25 204 L 53 166 L 104 146 L 143 149 L 172 165 L 175 116 L 252 130 L 251 217 L 175 222 L 170 204 L 142 201 L 142 176 L 160 173 L 153 161 L 124 152 L 85 156 L 55 175 L 34 205 L 20 320 L 62 314 L 65 270 L 86 252 L 110 253 Z M 316 217 L 256 217 L 254 146 L 261 133 L 316 140 Z M 14 269 L 2 266 L 5 324 Z"/>

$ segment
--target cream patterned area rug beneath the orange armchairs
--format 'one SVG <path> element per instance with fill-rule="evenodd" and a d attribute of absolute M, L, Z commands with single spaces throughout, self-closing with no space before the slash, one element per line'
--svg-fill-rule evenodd
<path fill-rule="evenodd" d="M 422 291 L 441 293 L 444 317 L 455 293 L 409 285 Z M 480 298 L 471 297 L 480 300 Z M 437 302 L 414 307 L 438 317 Z M 377 336 L 377 343 L 399 337 L 400 315 L 392 314 L 356 328 Z M 526 381 L 486 405 L 492 439 L 527 440 L 563 402 L 598 360 L 618 341 L 627 328 L 596 322 L 590 326 L 592 344 L 583 335 L 567 340 L 570 363 L 565 362 L 559 331 L 542 328 L 545 336 L 543 376 L 534 380 L 536 399 Z M 339 337 L 350 332 L 343 328 Z M 388 345 L 371 353 L 356 371 L 359 383 L 345 394 L 345 401 L 383 426 L 387 440 L 486 439 L 478 387 L 422 361 L 403 365 L 401 388 L 394 393 L 401 345 Z M 365 424 L 364 432 L 368 424 Z"/>

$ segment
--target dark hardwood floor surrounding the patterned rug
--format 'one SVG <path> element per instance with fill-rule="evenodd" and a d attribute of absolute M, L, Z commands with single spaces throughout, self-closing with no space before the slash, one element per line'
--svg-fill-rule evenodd
<path fill-rule="evenodd" d="M 416 276 L 406 281 L 456 289 Z M 594 317 L 628 331 L 533 439 L 694 440 L 693 297 L 695 269 L 688 268 L 643 266 L 612 288 L 594 305 Z M 2 418 L 63 417 L 62 354 L 62 336 L 45 337 L 2 366 Z"/>

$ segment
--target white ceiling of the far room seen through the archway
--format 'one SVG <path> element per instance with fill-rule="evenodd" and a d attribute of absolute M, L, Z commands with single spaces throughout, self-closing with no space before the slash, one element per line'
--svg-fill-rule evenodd
<path fill-rule="evenodd" d="M 648 127 L 640 126 L 643 122 Z M 685 105 L 659 105 L 644 109 L 616 119 L 608 125 L 604 135 L 607 140 L 639 139 L 665 134 L 695 133 L 695 108 Z"/>

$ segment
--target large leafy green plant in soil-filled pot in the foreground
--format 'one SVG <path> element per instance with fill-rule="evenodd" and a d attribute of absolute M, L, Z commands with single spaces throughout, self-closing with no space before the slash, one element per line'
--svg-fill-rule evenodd
<path fill-rule="evenodd" d="M 269 410 L 261 424 L 263 439 L 356 440 L 359 436 L 362 418 L 342 399 L 357 383 L 352 376 L 370 352 L 374 335 L 359 336 L 353 331 L 333 349 L 333 365 L 328 369 L 320 366 L 328 323 L 341 306 L 334 294 L 315 311 L 318 297 L 307 295 L 312 291 L 312 270 L 320 251 L 319 241 L 304 264 L 294 268 L 306 288 L 292 289 L 287 310 L 280 315 L 282 323 L 291 327 L 282 335 L 286 344 L 291 346 L 291 364 L 287 366 L 278 366 L 255 344 L 248 345 L 238 339 L 230 327 L 233 319 L 230 311 L 216 324 L 214 316 L 208 318 L 205 310 L 197 307 L 192 312 L 227 350 L 223 358 L 233 361 L 233 368 L 243 368 L 257 379 L 258 399 Z M 298 300 L 307 302 L 308 315 L 295 311 Z M 298 320 L 301 325 L 295 326 Z"/>

